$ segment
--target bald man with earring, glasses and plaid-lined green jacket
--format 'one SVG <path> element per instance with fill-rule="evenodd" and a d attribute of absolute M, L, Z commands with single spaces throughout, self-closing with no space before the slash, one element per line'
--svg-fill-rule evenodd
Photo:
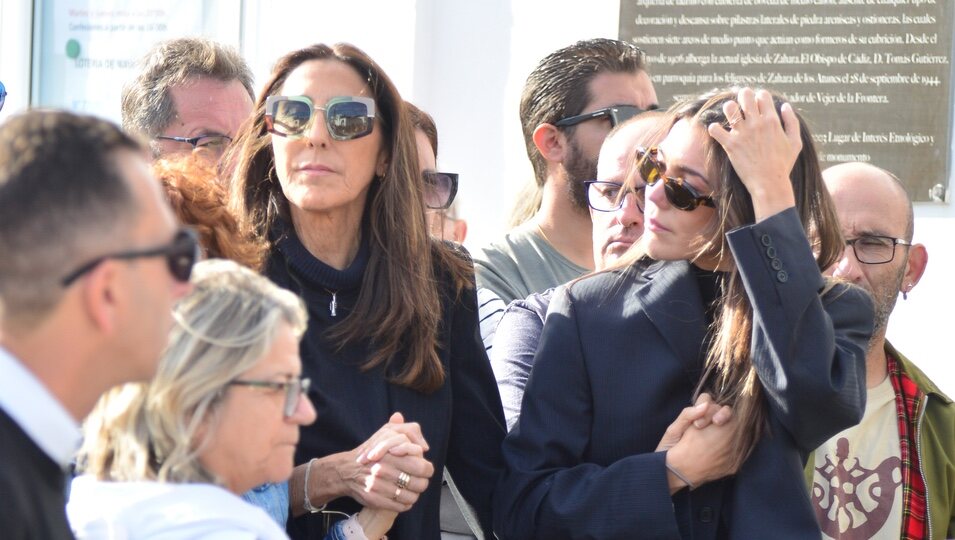
<path fill-rule="evenodd" d="M 899 293 L 925 271 L 912 203 L 890 172 L 865 163 L 823 173 L 846 249 L 831 270 L 872 294 L 862 421 L 816 449 L 806 467 L 823 538 L 955 537 L 955 404 L 885 339 Z"/>

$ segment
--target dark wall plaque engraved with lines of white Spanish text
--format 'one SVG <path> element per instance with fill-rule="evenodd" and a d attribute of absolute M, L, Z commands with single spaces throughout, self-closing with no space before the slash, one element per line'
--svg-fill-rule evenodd
<path fill-rule="evenodd" d="M 948 199 L 949 0 L 622 0 L 620 38 L 647 52 L 661 105 L 733 84 L 779 91 L 823 167 L 896 173 L 915 201 Z"/>

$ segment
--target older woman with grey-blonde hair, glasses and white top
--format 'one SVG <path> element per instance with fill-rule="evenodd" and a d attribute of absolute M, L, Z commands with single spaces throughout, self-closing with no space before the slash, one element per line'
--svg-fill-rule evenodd
<path fill-rule="evenodd" d="M 287 538 L 238 495 L 287 479 L 315 420 L 304 306 L 232 261 L 199 263 L 193 284 L 155 379 L 112 390 L 86 420 L 67 507 L 79 538 Z M 379 538 L 393 518 L 364 510 L 329 538 Z"/>

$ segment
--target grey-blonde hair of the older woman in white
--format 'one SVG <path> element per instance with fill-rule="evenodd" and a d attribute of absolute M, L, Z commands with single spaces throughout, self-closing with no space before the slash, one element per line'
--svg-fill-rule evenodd
<path fill-rule="evenodd" d="M 235 262 L 196 265 L 177 304 L 156 377 L 106 394 L 84 425 L 80 466 L 101 480 L 211 482 L 199 462 L 200 428 L 215 422 L 231 381 L 272 348 L 279 325 L 301 338 L 302 300 Z"/>

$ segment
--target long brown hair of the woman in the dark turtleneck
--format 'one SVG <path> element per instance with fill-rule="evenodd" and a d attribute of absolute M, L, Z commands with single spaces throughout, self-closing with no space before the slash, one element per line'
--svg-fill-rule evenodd
<path fill-rule="evenodd" d="M 289 74 L 311 60 L 335 60 L 354 69 L 375 99 L 375 129 L 382 129 L 388 165 L 372 181 L 365 205 L 363 232 L 370 257 L 352 312 L 328 331 L 344 346 L 370 341 L 373 352 L 362 365 L 370 370 L 384 364 L 396 369 L 392 382 L 421 392 L 444 383 L 438 357 L 441 297 L 438 272 L 447 273 L 454 294 L 470 286 L 473 272 L 453 248 L 433 242 L 424 213 L 424 184 L 418 169 L 414 131 L 404 101 L 388 75 L 357 47 L 317 44 L 278 60 L 259 95 L 253 117 L 243 125 L 223 159 L 231 177 L 230 205 L 257 234 L 266 237 L 278 220 L 288 223 L 288 200 L 275 172 L 272 138 L 265 127 L 265 100 L 276 95 Z M 407 359 L 396 358 L 407 351 Z"/>

